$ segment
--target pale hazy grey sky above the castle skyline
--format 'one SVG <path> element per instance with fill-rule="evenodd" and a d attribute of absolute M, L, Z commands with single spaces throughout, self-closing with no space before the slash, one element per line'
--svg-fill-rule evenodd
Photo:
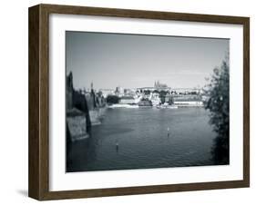
<path fill-rule="evenodd" d="M 203 86 L 229 51 L 229 40 L 66 32 L 67 73 L 75 88 Z"/>

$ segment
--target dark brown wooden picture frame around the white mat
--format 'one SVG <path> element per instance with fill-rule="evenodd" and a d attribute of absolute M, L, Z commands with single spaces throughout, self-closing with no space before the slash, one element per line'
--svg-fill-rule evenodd
<path fill-rule="evenodd" d="M 154 186 L 49 190 L 49 15 L 99 15 L 176 20 L 243 26 L 243 180 Z M 28 195 L 36 200 L 60 200 L 146 194 L 185 190 L 214 190 L 250 186 L 250 18 L 192 15 L 69 5 L 36 5 L 29 8 L 29 181 Z"/>

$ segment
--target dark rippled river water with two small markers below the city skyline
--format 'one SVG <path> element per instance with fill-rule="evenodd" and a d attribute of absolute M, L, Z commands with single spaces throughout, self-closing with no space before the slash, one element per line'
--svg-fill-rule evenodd
<path fill-rule="evenodd" d="M 214 164 L 210 151 L 216 133 L 204 108 L 108 109 L 89 135 L 68 147 L 67 171 Z"/>

